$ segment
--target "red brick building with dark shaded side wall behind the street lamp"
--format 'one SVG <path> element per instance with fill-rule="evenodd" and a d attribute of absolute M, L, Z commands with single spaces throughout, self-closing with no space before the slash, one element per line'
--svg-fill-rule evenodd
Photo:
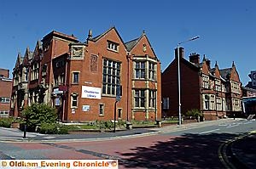
<path fill-rule="evenodd" d="M 206 56 L 200 62 L 199 54 L 190 54 L 184 59 L 179 48 L 181 72 L 181 112 L 200 110 L 206 120 L 223 118 L 225 115 L 241 114 L 241 82 L 236 66 L 219 70 L 216 62 Z M 178 115 L 177 49 L 175 59 L 162 73 L 163 115 Z"/>

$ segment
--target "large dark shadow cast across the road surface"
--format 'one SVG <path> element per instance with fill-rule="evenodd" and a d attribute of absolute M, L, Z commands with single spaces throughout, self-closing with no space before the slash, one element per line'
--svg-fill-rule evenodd
<path fill-rule="evenodd" d="M 131 153 L 121 153 L 125 168 L 224 168 L 218 158 L 218 147 L 238 134 L 185 134 L 150 147 L 137 147 Z"/>

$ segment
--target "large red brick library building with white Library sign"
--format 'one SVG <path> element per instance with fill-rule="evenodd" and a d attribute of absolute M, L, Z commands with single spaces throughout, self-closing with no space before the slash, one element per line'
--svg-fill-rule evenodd
<path fill-rule="evenodd" d="M 27 87 L 19 88 L 26 72 Z M 144 32 L 123 42 L 112 27 L 96 37 L 89 31 L 86 42 L 79 42 L 52 31 L 33 52 L 27 48 L 23 59 L 18 55 L 14 76 L 15 116 L 26 104 L 39 102 L 55 106 L 61 121 L 108 121 L 118 98 L 119 120 L 161 117 L 160 61 Z"/>

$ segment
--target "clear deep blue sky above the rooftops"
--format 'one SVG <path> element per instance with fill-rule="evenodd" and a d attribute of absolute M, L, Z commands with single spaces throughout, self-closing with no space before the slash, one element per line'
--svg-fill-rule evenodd
<path fill-rule="evenodd" d="M 84 42 L 115 26 L 125 42 L 146 31 L 165 70 L 178 42 L 190 53 L 206 54 L 220 69 L 235 61 L 243 85 L 256 70 L 256 1 L 253 0 L 0 0 L 0 67 L 12 70 L 18 52 L 35 48 L 50 31 Z"/>

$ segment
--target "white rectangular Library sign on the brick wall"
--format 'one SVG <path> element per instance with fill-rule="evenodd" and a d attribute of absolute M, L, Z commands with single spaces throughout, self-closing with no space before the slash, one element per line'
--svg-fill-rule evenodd
<path fill-rule="evenodd" d="M 82 86 L 82 98 L 102 99 L 102 88 Z"/>

